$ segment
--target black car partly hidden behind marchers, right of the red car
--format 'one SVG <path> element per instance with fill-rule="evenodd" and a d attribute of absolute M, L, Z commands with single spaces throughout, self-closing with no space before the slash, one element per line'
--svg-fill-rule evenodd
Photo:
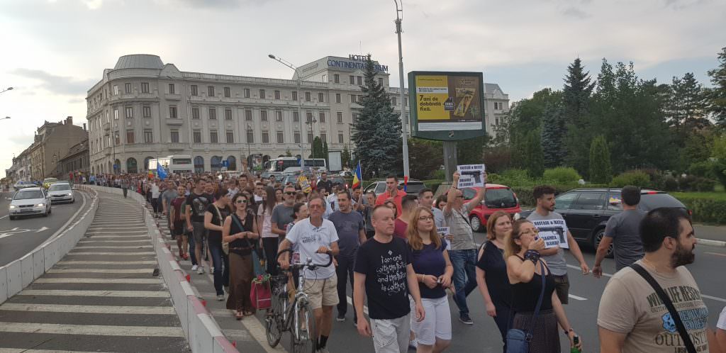
<path fill-rule="evenodd" d="M 688 208 L 677 198 L 664 191 L 641 190 L 638 209 L 648 212 L 654 208 L 680 208 L 690 214 Z M 534 210 L 522 211 L 521 218 L 526 218 Z M 597 249 L 605 234 L 605 224 L 610 216 L 623 211 L 620 189 L 575 189 L 563 192 L 555 198 L 555 211 L 563 216 L 572 238 Z M 612 257 L 613 247 L 608 249 L 608 257 Z"/>

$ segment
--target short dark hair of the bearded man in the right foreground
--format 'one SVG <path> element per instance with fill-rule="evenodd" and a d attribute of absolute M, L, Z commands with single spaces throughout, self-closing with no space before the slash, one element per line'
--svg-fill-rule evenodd
<path fill-rule="evenodd" d="M 678 239 L 683 228 L 680 225 L 681 219 L 690 218 L 680 208 L 656 208 L 643 217 L 640 221 L 640 239 L 643 240 L 643 251 L 652 253 L 658 251 L 663 245 L 666 237 Z"/>

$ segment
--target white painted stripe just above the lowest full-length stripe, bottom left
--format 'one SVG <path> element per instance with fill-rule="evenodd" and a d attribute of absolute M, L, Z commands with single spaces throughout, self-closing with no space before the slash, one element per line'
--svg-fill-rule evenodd
<path fill-rule="evenodd" d="M 58 305 L 5 303 L 0 310 L 18 312 L 73 312 L 82 314 L 174 315 L 174 307 L 114 307 L 106 305 Z"/>

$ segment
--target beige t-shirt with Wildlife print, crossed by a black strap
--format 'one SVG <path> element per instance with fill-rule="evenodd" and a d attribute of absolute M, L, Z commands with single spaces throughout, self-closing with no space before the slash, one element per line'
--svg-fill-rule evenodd
<path fill-rule="evenodd" d="M 636 264 L 643 266 L 642 261 Z M 703 304 L 701 291 L 685 267 L 674 275 L 651 272 L 681 317 L 697 352 L 708 353 L 706 339 L 709 309 Z M 626 267 L 608 281 L 600 299 L 597 325 L 627 333 L 624 353 L 685 352 L 676 325 L 656 291 L 634 269 Z"/>

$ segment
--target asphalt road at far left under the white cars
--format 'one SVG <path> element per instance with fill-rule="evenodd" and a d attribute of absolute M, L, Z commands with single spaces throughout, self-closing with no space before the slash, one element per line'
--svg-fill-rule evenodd
<path fill-rule="evenodd" d="M 83 205 L 83 194 L 74 193 L 75 203 L 54 204 L 51 206 L 52 213 L 47 217 L 24 216 L 11 221 L 8 216 L 10 201 L 6 198 L 12 197 L 12 192 L 2 192 L 0 198 L 0 266 L 25 256 L 68 222 Z M 86 206 L 88 204 L 86 202 Z"/>

